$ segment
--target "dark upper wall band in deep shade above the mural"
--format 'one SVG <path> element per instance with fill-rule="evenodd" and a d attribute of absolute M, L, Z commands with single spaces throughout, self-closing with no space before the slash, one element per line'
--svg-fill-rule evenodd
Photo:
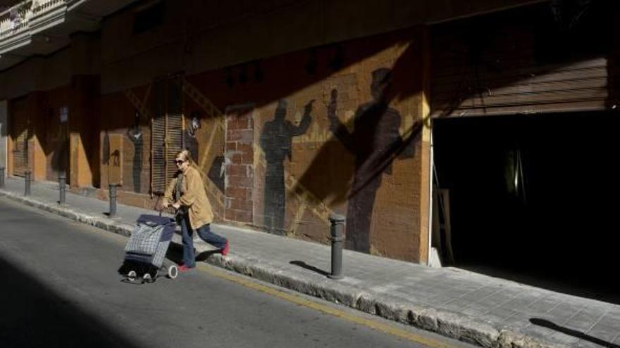
<path fill-rule="evenodd" d="M 176 6 L 168 0 L 159 22 L 138 33 L 132 30 L 138 6 L 130 6 L 102 22 L 101 89 L 120 91 L 152 76 L 191 75 L 535 2 L 543 1 L 192 0 Z"/>

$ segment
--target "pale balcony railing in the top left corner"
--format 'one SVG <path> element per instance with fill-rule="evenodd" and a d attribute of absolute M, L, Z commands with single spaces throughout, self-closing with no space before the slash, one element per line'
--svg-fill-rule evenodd
<path fill-rule="evenodd" d="M 34 18 L 66 6 L 68 2 L 70 0 L 26 0 L 0 13 L 0 40 L 26 32 Z"/>

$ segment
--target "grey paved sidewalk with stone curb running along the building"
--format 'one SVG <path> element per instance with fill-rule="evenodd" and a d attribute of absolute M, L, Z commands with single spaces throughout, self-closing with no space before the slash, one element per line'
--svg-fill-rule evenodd
<path fill-rule="evenodd" d="M 118 205 L 108 219 L 109 202 L 67 193 L 58 186 L 32 183 L 23 197 L 23 179 L 6 179 L 0 197 L 129 236 L 134 221 L 149 210 Z M 1 198 L 0 198 L 1 199 Z M 483 347 L 620 347 L 620 306 L 564 295 L 461 269 L 418 264 L 344 251 L 345 278 L 333 281 L 330 247 L 268 233 L 213 224 L 230 240 L 230 254 L 206 262 L 275 285 L 377 314 Z M 180 243 L 180 236 L 175 236 Z M 194 242 L 198 252 L 212 250 Z"/>

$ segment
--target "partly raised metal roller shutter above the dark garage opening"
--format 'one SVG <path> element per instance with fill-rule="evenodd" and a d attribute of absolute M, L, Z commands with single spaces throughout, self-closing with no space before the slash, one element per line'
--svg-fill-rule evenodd
<path fill-rule="evenodd" d="M 545 11 L 433 28 L 433 117 L 604 109 L 607 53 L 590 41 L 605 39 L 596 29 L 559 32 Z"/>

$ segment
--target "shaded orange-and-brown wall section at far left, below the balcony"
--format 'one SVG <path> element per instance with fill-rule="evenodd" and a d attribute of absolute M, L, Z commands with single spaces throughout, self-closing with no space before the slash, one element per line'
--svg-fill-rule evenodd
<path fill-rule="evenodd" d="M 65 174 L 72 186 L 94 186 L 99 150 L 99 78 L 75 76 L 72 83 L 14 98 L 11 146 L 27 132 L 28 167 L 36 180 L 58 181 Z M 17 107 L 24 104 L 24 107 Z M 9 160 L 13 161 L 11 152 Z M 98 177 L 97 177 L 98 180 Z"/>

